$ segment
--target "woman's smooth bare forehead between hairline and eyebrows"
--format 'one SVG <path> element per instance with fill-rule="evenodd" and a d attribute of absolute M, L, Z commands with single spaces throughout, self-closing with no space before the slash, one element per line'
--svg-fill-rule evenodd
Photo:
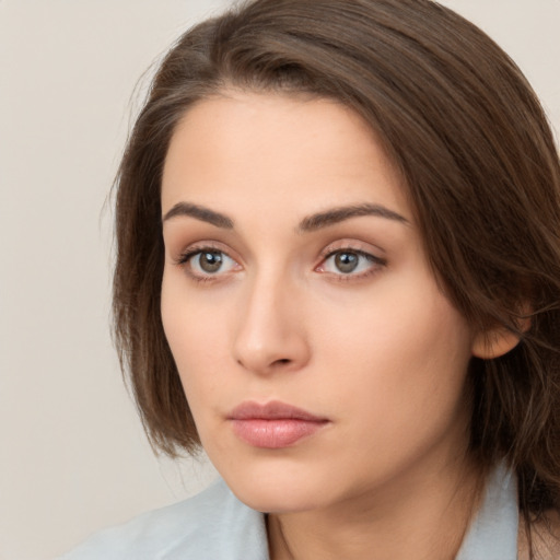
<path fill-rule="evenodd" d="M 172 137 L 162 210 L 187 199 L 305 214 L 383 203 L 410 218 L 402 180 L 369 126 L 334 101 L 228 92 L 192 106 Z"/>

